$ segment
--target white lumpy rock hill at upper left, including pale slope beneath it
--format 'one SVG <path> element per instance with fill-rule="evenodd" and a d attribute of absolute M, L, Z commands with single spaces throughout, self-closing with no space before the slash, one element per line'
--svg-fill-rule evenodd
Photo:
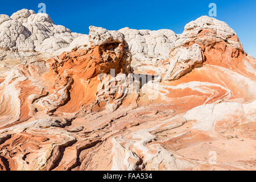
<path fill-rule="evenodd" d="M 22 9 L 10 17 L 0 15 L 0 77 L 6 77 L 5 72 L 15 64 L 48 59 L 88 45 L 88 35 L 54 24 L 47 14 Z"/>

